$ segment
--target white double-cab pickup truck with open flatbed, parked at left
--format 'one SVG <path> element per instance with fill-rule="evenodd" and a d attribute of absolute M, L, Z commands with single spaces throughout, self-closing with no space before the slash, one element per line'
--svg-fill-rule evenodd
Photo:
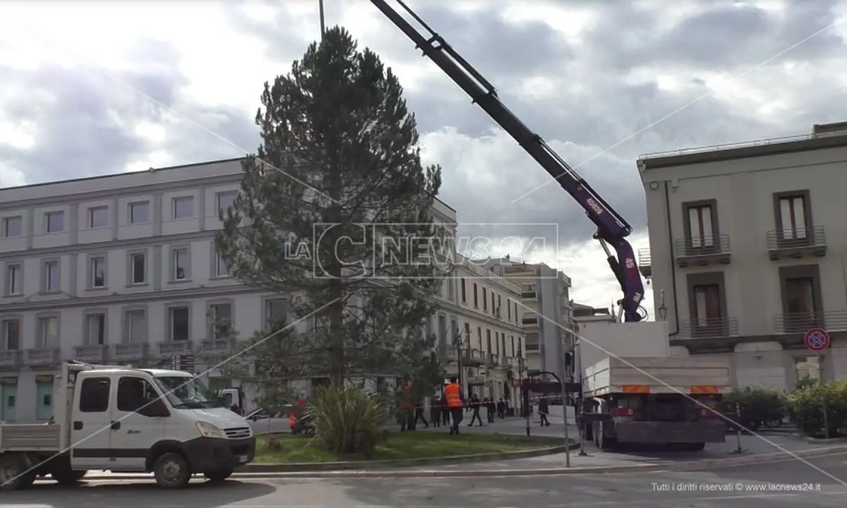
<path fill-rule="evenodd" d="M 174 370 L 65 362 L 47 424 L 0 425 L 0 489 L 50 475 L 74 484 L 89 470 L 152 472 L 167 489 L 193 474 L 223 482 L 253 460 L 249 423 Z"/>

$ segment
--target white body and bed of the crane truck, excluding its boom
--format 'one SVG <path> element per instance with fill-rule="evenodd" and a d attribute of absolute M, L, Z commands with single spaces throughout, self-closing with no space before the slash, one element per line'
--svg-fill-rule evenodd
<path fill-rule="evenodd" d="M 732 390 L 729 358 L 672 356 L 664 323 L 580 328 L 585 439 L 601 449 L 662 444 L 691 451 L 724 442 L 717 406 Z"/>

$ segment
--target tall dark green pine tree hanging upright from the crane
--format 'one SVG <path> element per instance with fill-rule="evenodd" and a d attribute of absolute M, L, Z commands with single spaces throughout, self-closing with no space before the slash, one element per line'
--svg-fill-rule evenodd
<path fill-rule="evenodd" d="M 335 27 L 265 83 L 262 104 L 262 143 L 215 243 L 236 279 L 285 295 L 307 331 L 275 323 L 271 339 L 248 339 L 255 380 L 268 392 L 429 362 L 422 323 L 449 264 L 432 253 L 450 241 L 430 215 L 440 168 L 421 164 L 396 76 Z"/>

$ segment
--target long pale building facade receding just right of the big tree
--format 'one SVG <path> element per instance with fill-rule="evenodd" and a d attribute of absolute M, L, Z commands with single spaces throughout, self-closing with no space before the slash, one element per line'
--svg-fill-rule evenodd
<path fill-rule="evenodd" d="M 468 393 L 518 400 L 512 379 L 525 363 L 520 287 L 457 254 L 441 298 L 429 333 L 436 334 L 448 373 L 459 375 Z"/>

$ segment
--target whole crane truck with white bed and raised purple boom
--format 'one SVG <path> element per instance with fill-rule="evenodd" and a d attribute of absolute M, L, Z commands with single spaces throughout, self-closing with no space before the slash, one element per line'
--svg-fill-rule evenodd
<path fill-rule="evenodd" d="M 396 25 L 420 49 L 425 57 L 444 71 L 472 101 L 488 113 L 525 152 L 533 157 L 573 199 L 583 207 L 596 226 L 594 238 L 606 252 L 606 262 L 612 268 L 623 290 L 617 331 L 614 340 L 605 341 L 605 358 L 585 368 L 582 399 L 595 411 L 585 414 L 582 421 L 588 437 L 601 448 L 617 443 L 670 443 L 690 450 L 702 450 L 707 442 L 722 442 L 725 426 L 714 406 L 721 393 L 729 389 L 728 361 L 713 358 L 673 357 L 669 352 L 667 329 L 651 329 L 645 323 L 646 312 L 641 307 L 644 283 L 641 280 L 633 247 L 627 240 L 632 227 L 576 171 L 571 168 L 544 139 L 518 119 L 500 100 L 495 86 L 462 57 L 444 37 L 427 25 L 403 0 L 395 0 L 406 13 L 423 27 L 424 33 L 386 0 L 371 0 L 385 17 Z M 611 246 L 611 248 L 610 248 Z M 615 251 L 612 253 L 612 250 Z M 645 357 L 621 355 L 622 344 L 642 347 L 631 332 L 639 327 L 639 336 L 663 342 L 667 354 Z M 609 330 L 612 330 L 610 328 Z M 625 331 L 625 334 L 621 332 Z M 646 333 L 644 333 L 646 332 Z M 628 334 L 628 335 L 626 335 Z M 597 340 L 603 341 L 602 338 Z M 592 347 L 584 340 L 584 348 Z M 583 348 L 583 349 L 584 349 Z"/>

